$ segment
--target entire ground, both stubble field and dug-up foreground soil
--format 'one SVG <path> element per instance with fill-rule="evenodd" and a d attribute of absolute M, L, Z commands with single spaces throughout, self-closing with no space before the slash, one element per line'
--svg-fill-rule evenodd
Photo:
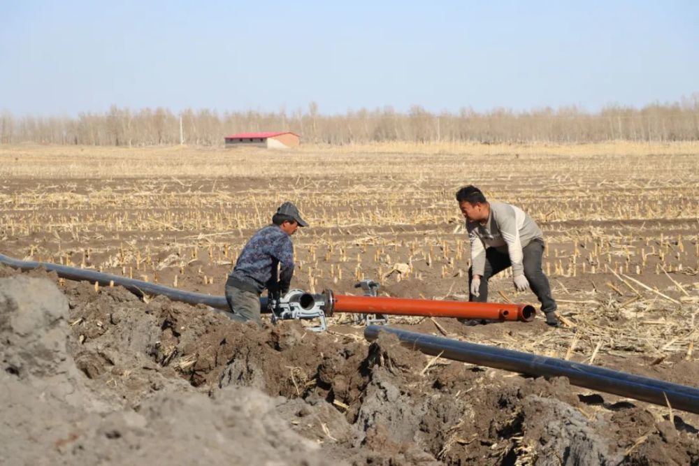
<path fill-rule="evenodd" d="M 392 325 L 698 386 L 698 144 L 244 151 L 0 146 L 0 253 L 222 295 L 288 200 L 310 223 L 294 287 L 372 278 L 466 300 L 454 192 L 475 184 L 542 227 L 565 326 Z M 42 271 L 0 277 L 0 464 L 699 464 L 697 415 L 367 344 L 347 316 L 321 335 L 257 330 Z M 506 275 L 491 290 L 536 304 Z"/>

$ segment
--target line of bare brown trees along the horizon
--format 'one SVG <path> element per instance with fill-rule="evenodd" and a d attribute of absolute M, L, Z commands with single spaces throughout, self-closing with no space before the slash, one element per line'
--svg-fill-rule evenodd
<path fill-rule="evenodd" d="M 248 131 L 294 131 L 311 143 L 352 144 L 387 141 L 477 141 L 481 143 L 591 143 L 607 140 L 699 140 L 699 94 L 677 103 L 644 108 L 607 106 L 600 112 L 576 107 L 529 112 L 496 109 L 431 113 L 417 105 L 408 112 L 361 109 L 322 115 L 318 105 L 291 114 L 224 112 L 166 108 L 130 110 L 113 106 L 106 113 L 78 117 L 15 117 L 0 114 L 0 143 L 72 145 L 222 145 L 224 136 Z"/>

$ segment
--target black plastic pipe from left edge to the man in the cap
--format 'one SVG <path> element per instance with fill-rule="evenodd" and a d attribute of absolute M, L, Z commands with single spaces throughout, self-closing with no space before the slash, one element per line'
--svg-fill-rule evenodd
<path fill-rule="evenodd" d="M 98 282 L 101 286 L 110 286 L 110 282 L 113 282 L 115 285 L 123 286 L 137 296 L 143 296 L 144 294 L 162 295 L 167 296 L 173 301 L 181 301 L 182 303 L 189 303 L 192 305 L 203 304 L 214 307 L 215 309 L 230 312 L 230 307 L 226 302 L 225 296 L 211 296 L 204 293 L 194 293 L 193 291 L 182 291 L 169 286 L 122 277 L 121 275 L 111 275 L 109 273 L 95 272 L 94 270 L 69 267 L 67 265 L 59 265 L 50 262 L 19 261 L 8 256 L 3 256 L 3 254 L 0 254 L 0 263 L 21 270 L 45 268 L 49 272 L 56 272 L 61 278 L 78 282 Z M 266 297 L 260 298 L 260 307 L 262 310 L 267 309 Z"/>

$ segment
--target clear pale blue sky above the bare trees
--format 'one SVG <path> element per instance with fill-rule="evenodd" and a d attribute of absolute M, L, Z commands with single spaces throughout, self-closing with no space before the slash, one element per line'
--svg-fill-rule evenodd
<path fill-rule="evenodd" d="M 699 92 L 699 1 L 0 0 L 0 110 L 640 107 Z"/>

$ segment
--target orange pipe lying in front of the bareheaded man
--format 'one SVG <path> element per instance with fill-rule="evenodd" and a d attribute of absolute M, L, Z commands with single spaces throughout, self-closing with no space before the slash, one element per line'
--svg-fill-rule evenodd
<path fill-rule="evenodd" d="M 535 310 L 526 304 L 466 303 L 427 299 L 387 298 L 384 296 L 335 295 L 333 312 L 358 314 L 398 314 L 402 316 L 457 317 L 496 321 L 534 320 Z"/>

